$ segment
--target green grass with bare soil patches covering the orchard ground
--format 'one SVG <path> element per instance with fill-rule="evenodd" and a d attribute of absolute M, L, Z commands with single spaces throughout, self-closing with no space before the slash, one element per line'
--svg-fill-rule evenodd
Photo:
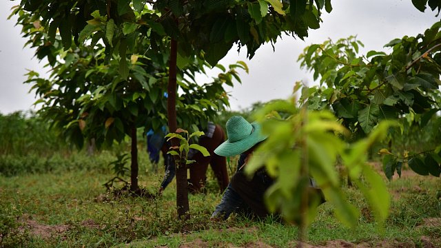
<path fill-rule="evenodd" d="M 155 192 L 162 175 L 148 172 L 145 158 L 141 161 L 139 181 Z M 0 247 L 295 246 L 298 228 L 272 218 L 253 221 L 233 215 L 222 223 L 210 222 L 220 200 L 212 174 L 209 193 L 189 196 L 192 218 L 185 223 L 176 216 L 174 182 L 161 198 L 115 197 L 103 187 L 112 176 L 110 169 L 92 165 L 64 172 L 0 176 Z M 436 198 L 440 178 L 412 176 L 388 185 L 393 203 L 383 229 L 375 225 L 360 193 L 344 188 L 351 203 L 362 209 L 358 226 L 344 227 L 334 217 L 332 206 L 325 203 L 309 227 L 307 242 L 325 245 L 327 240 L 346 240 L 375 245 L 391 240 L 421 247 L 421 237 L 426 236 L 434 245 L 441 245 L 439 220 L 438 226 L 421 226 L 427 218 L 441 218 L 441 202 Z M 30 221 L 41 227 L 68 228 L 35 236 L 36 227 L 29 226 Z"/>

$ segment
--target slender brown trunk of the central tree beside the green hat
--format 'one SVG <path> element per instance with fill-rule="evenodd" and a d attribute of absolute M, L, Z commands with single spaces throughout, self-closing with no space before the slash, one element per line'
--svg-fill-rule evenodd
<path fill-rule="evenodd" d="M 168 128 L 170 132 L 176 132 L 178 123 L 176 121 L 176 56 L 178 54 L 178 43 L 172 39 L 170 49 L 170 65 L 168 77 L 168 99 L 167 99 L 167 116 Z M 178 146 L 178 140 L 172 139 L 172 146 Z M 176 171 L 176 207 L 178 209 L 178 216 L 185 220 L 189 219 L 189 204 L 188 204 L 188 189 L 187 189 L 187 165 L 179 162 L 175 156 L 175 171 Z M 177 163 L 176 163 L 177 162 Z"/>

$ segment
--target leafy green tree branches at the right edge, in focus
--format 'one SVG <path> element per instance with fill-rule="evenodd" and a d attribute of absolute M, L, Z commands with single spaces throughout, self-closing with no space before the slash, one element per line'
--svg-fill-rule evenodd
<path fill-rule="evenodd" d="M 349 141 L 369 134 L 380 121 L 404 118 L 421 129 L 441 110 L 441 22 L 416 37 L 394 39 L 385 47 L 390 54 L 369 51 L 358 55 L 362 45 L 354 37 L 331 40 L 305 48 L 299 60 L 320 76 L 320 86 L 305 88 L 301 99 L 311 110 L 331 108 L 340 123 L 351 130 Z M 441 123 L 438 121 L 439 129 Z M 438 132 L 435 132 L 435 134 Z M 401 174 L 407 163 L 418 174 L 440 176 L 441 144 L 426 151 L 385 154 L 387 178 Z M 424 162 L 423 162 L 424 161 Z"/>

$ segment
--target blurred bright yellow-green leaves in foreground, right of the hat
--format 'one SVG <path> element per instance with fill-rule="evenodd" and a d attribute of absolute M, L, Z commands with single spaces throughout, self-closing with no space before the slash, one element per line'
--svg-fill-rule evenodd
<path fill-rule="evenodd" d="M 289 115 L 281 118 L 279 112 Z M 348 131 L 337 123 L 334 114 L 309 112 L 305 107 L 299 109 L 294 101 L 269 103 L 256 118 L 269 138 L 258 148 L 256 153 L 261 155 L 253 157 L 247 172 L 265 166 L 269 174 L 277 178 L 266 193 L 271 211 L 280 212 L 289 222 L 309 225 L 317 207 L 317 203 L 305 205 L 309 197 L 309 176 L 312 176 L 327 201 L 335 206 L 338 219 L 345 225 L 355 226 L 360 214 L 342 194 L 336 171 L 340 157 L 349 176 L 367 198 L 378 224 L 384 223 L 390 196 L 380 175 L 367 166 L 366 154 L 374 142 L 384 138 L 392 123 L 382 123 L 367 138 L 349 144 L 340 137 L 348 135 Z"/>

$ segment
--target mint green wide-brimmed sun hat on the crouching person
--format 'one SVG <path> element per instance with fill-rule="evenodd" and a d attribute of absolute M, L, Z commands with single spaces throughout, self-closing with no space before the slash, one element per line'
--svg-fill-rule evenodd
<path fill-rule="evenodd" d="M 228 139 L 220 144 L 214 153 L 219 156 L 235 156 L 265 140 L 258 123 L 249 123 L 242 116 L 233 116 L 227 121 Z"/>

